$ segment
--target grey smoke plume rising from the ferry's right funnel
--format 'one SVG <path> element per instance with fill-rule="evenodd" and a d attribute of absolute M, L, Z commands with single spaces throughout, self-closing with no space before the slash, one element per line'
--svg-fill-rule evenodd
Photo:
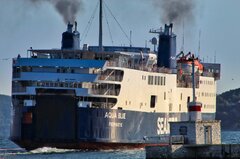
<path fill-rule="evenodd" d="M 154 6 L 160 10 L 161 21 L 164 23 L 182 24 L 194 22 L 194 0 L 153 0 Z"/>

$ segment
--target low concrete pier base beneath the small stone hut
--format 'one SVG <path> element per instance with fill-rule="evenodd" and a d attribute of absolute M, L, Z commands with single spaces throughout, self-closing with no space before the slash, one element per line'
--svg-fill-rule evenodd
<path fill-rule="evenodd" d="M 147 159 L 239 159 L 240 144 L 148 146 Z"/>

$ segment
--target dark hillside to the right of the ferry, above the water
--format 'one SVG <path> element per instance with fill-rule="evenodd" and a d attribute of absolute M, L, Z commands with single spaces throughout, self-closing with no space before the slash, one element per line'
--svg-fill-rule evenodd
<path fill-rule="evenodd" d="M 222 130 L 240 130 L 240 88 L 217 96 L 216 119 L 221 120 Z"/>

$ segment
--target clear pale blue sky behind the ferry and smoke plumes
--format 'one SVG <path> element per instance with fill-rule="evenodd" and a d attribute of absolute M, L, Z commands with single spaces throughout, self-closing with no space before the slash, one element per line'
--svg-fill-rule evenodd
<path fill-rule="evenodd" d="M 11 95 L 12 58 L 27 56 L 27 49 L 52 49 L 61 47 L 61 34 L 66 30 L 62 16 L 53 5 L 43 0 L 32 4 L 30 0 L 0 0 L 0 94 Z M 77 14 L 81 45 L 98 44 L 98 15 L 94 16 L 86 36 L 84 32 L 98 0 L 82 0 Z M 168 21 L 161 19 L 161 9 L 153 1 L 160 0 L 104 0 L 127 35 L 132 31 L 133 46 L 153 48 L 149 40 Z M 180 0 L 179 0 L 180 1 Z M 218 94 L 240 87 L 240 0 L 192 0 L 194 20 L 184 19 L 184 50 L 199 54 L 204 62 L 221 63 L 221 80 Z M 103 44 L 129 45 L 129 40 L 105 8 Z M 106 20 L 107 19 L 107 20 Z M 108 23 L 107 23 L 108 22 Z M 177 50 L 183 39 L 183 25 L 175 25 Z M 201 36 L 199 38 L 199 32 Z M 200 39 L 200 40 L 199 40 Z M 200 53 L 198 53 L 200 41 Z"/>

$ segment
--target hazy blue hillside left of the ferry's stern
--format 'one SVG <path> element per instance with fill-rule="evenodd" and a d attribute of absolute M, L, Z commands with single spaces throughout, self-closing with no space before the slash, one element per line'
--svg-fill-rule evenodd
<path fill-rule="evenodd" d="M 0 138 L 8 138 L 11 123 L 11 97 L 0 95 Z"/>

